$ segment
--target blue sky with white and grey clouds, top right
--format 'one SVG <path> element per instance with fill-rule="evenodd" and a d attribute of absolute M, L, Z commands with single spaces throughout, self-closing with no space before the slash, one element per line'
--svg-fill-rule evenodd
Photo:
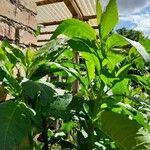
<path fill-rule="evenodd" d="M 109 0 L 101 0 L 105 6 Z M 142 31 L 150 37 L 150 0 L 117 0 L 120 22 L 117 28 L 126 27 Z"/>

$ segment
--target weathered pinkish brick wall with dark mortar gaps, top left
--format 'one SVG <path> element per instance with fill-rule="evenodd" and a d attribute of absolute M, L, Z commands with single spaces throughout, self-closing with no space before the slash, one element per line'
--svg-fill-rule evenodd
<path fill-rule="evenodd" d="M 19 45 L 37 45 L 35 0 L 0 0 L 0 40 Z"/>

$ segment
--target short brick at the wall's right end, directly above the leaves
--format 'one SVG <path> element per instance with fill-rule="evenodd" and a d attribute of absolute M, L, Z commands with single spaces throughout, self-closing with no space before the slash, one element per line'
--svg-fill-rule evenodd
<path fill-rule="evenodd" d="M 20 43 L 29 45 L 34 44 L 37 45 L 37 38 L 34 36 L 34 34 L 29 33 L 28 31 L 19 30 L 19 38 Z"/>

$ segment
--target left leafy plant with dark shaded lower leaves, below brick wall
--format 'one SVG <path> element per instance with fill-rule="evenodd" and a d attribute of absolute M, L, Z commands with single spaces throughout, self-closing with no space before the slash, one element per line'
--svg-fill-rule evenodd
<path fill-rule="evenodd" d="M 63 70 L 71 74 L 69 69 L 54 63 L 65 51 L 63 45 L 66 40 L 51 40 L 38 50 L 28 48 L 25 52 L 6 40 L 1 42 L 1 94 L 7 95 L 7 98 L 1 97 L 0 103 L 1 150 L 46 150 L 50 146 L 53 118 L 63 114 L 72 95 L 51 84 L 50 75 L 36 72 L 47 64 L 51 73 Z M 63 139 L 59 139 L 59 142 L 67 143 Z"/>

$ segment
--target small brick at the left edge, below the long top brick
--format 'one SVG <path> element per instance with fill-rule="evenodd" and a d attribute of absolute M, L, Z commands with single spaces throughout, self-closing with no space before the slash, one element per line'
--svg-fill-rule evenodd
<path fill-rule="evenodd" d="M 0 35 L 15 40 L 15 28 L 7 23 L 0 22 Z"/>

